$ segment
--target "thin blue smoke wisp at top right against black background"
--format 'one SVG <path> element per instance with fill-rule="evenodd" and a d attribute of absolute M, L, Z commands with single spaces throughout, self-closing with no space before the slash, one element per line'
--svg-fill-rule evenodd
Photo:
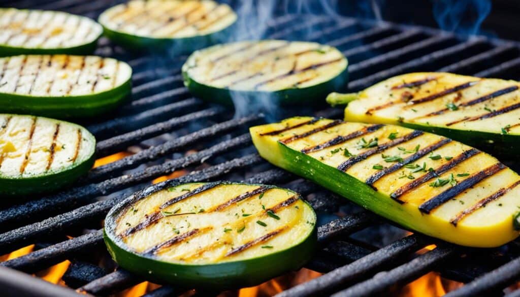
<path fill-rule="evenodd" d="M 490 0 L 433 1 L 433 15 L 440 29 L 460 34 L 482 34 L 480 26 L 489 12 Z"/>

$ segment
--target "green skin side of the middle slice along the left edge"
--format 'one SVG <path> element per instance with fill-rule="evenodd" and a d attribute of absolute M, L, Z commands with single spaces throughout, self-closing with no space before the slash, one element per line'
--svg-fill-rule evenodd
<path fill-rule="evenodd" d="M 55 119 L 92 118 L 131 97 L 132 81 L 94 95 L 45 97 L 0 93 L 0 112 L 41 115 Z"/>

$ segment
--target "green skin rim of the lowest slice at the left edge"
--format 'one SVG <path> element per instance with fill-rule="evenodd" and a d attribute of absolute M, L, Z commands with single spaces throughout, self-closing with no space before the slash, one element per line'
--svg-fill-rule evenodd
<path fill-rule="evenodd" d="M 6 114 L 17 117 L 17 114 Z M 43 117 L 39 117 L 43 118 Z M 52 119 L 50 119 L 52 120 Z M 72 124 L 64 121 L 56 121 L 59 123 Z M 30 195 L 34 193 L 49 193 L 73 184 L 78 178 L 85 175 L 96 160 L 95 156 L 95 137 L 88 131 L 77 124 L 72 124 L 82 128 L 82 136 L 92 143 L 90 156 L 78 163 L 74 163 L 68 167 L 62 167 L 59 170 L 46 172 L 35 176 L 28 177 L 8 177 L 0 174 L 0 197 L 16 197 L 20 195 Z"/>

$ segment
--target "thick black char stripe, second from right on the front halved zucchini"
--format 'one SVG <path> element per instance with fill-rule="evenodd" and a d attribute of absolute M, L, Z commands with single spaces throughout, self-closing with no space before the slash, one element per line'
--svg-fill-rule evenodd
<path fill-rule="evenodd" d="M 469 189 L 470 187 L 474 186 L 481 180 L 483 180 L 493 174 L 496 174 L 505 168 L 506 168 L 506 166 L 502 163 L 493 164 L 493 165 L 487 167 L 486 169 L 467 177 L 466 179 L 464 179 L 462 182 L 458 183 L 457 185 L 447 189 L 444 192 L 441 192 L 439 195 L 424 202 L 423 204 L 421 204 L 419 206 L 419 210 L 423 213 L 429 214 L 432 210 L 436 209 L 438 206 L 449 201 L 453 197 L 459 195 L 461 192 Z"/>

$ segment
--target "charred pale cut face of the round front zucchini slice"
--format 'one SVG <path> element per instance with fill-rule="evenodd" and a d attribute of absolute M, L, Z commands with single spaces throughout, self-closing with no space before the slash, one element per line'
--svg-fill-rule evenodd
<path fill-rule="evenodd" d="M 284 250 L 297 243 L 284 242 L 284 234 L 308 236 L 314 224 L 314 212 L 295 192 L 215 182 L 167 188 L 128 204 L 115 235 L 141 255 L 209 264 Z M 272 248 L 263 249 L 267 243 Z"/>

